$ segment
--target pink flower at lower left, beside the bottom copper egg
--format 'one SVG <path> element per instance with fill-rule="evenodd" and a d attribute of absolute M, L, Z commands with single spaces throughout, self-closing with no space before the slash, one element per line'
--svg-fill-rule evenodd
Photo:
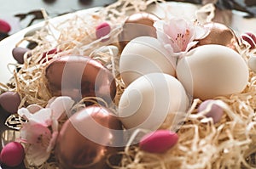
<path fill-rule="evenodd" d="M 48 160 L 58 136 L 58 120 L 73 104 L 69 97 L 58 97 L 50 99 L 46 108 L 32 104 L 18 110 L 28 121 L 20 129 L 20 141 L 27 145 L 26 160 L 30 164 L 40 166 Z"/>

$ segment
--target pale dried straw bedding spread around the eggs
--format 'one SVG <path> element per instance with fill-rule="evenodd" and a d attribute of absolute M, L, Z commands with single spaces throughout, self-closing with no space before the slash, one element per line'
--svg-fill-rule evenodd
<path fill-rule="evenodd" d="M 158 1 L 165 3 L 163 1 Z M 9 85 L 0 84 L 1 92 L 13 90 L 20 93 L 22 99 L 20 107 L 29 104 L 39 104 L 45 106 L 51 99 L 47 88 L 42 81 L 42 72 L 49 59 L 58 58 L 67 54 L 89 55 L 91 58 L 98 59 L 103 65 L 112 70 L 116 77 L 117 96 L 113 105 L 107 105 L 109 109 L 115 110 L 119 104 L 119 98 L 125 90 L 125 84 L 122 82 L 119 72 L 119 56 L 113 56 L 111 51 L 108 54 L 94 54 L 95 49 L 104 45 L 116 44 L 118 34 L 122 31 L 126 14 L 145 10 L 149 4 L 156 3 L 156 0 L 137 1 L 137 0 L 119 0 L 107 8 L 102 8 L 93 14 L 79 15 L 74 14 L 59 25 L 53 25 L 46 21 L 41 31 L 37 31 L 32 37 L 25 37 L 17 43 L 37 42 L 38 46 L 31 51 L 32 57 L 25 57 L 25 64 L 19 65 L 19 71 L 14 72 L 14 78 Z M 167 12 L 167 11 L 166 11 Z M 46 20 L 48 18 L 46 17 Z M 101 42 L 102 39 L 96 39 L 95 27 L 108 21 L 113 26 L 109 35 L 108 42 Z M 54 31 L 60 33 L 56 38 Z M 104 37 L 105 38 L 105 37 Z M 43 53 L 52 48 L 57 48 L 58 54 L 47 54 L 42 59 Z M 255 51 L 249 51 L 244 46 L 238 47 L 241 56 L 247 60 Z M 120 51 L 119 51 L 120 52 Z M 27 54 L 26 54 L 27 56 Z M 213 124 L 211 118 L 207 118 L 204 112 L 197 114 L 198 105 L 201 100 L 194 99 L 190 109 L 187 112 L 186 121 L 177 131 L 179 135 L 178 143 L 175 147 L 168 150 L 165 154 L 149 154 L 140 150 L 136 145 L 127 144 L 122 155 L 122 161 L 119 166 L 112 166 L 116 169 L 144 169 L 144 168 L 256 168 L 255 161 L 250 157 L 256 153 L 256 74 L 250 70 L 250 79 L 246 89 L 242 93 L 234 93 L 229 97 L 215 98 L 216 102 L 224 109 L 222 120 Z M 79 104 L 76 104 L 73 110 L 79 110 L 83 107 L 84 100 L 95 103 L 96 98 L 85 98 Z M 209 105 L 207 109 L 210 109 Z M 166 120 L 161 128 L 171 129 L 172 124 Z M 135 139 L 137 134 L 143 131 L 135 132 L 130 140 Z M 108 161 L 109 163 L 109 161 Z M 252 166 L 254 165 L 254 167 Z M 56 168 L 57 164 L 54 155 L 49 158 L 42 166 L 31 166 L 26 163 L 27 168 Z"/>

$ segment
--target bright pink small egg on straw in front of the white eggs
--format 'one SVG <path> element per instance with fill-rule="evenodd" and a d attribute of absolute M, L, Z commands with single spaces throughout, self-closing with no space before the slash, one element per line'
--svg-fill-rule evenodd
<path fill-rule="evenodd" d="M 140 141 L 140 149 L 149 153 L 164 153 L 177 144 L 176 132 L 169 130 L 157 130 L 146 134 Z"/>

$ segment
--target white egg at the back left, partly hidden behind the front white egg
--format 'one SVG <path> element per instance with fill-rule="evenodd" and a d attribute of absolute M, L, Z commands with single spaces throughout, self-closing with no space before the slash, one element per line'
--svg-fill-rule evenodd
<path fill-rule="evenodd" d="M 139 76 L 162 72 L 175 76 L 175 60 L 154 37 L 136 37 L 129 42 L 119 60 L 119 71 L 128 86 Z"/>

